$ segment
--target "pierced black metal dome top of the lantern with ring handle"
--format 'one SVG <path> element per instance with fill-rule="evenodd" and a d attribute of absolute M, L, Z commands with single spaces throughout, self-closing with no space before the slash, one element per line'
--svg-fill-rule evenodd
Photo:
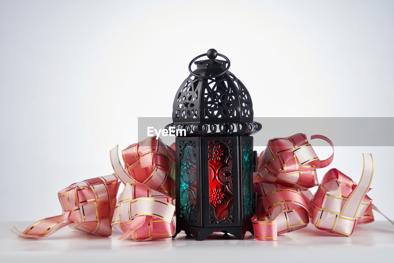
<path fill-rule="evenodd" d="M 196 61 L 203 56 L 208 59 Z M 225 60 L 217 60 L 217 56 Z M 215 49 L 193 58 L 190 75 L 173 102 L 173 123 L 166 128 L 186 129 L 187 136 L 250 135 L 261 130 L 261 124 L 253 121 L 249 92 L 229 68 L 230 60 Z"/>

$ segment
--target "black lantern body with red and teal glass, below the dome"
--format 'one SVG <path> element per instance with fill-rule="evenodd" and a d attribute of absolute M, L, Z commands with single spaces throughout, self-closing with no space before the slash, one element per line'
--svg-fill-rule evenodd
<path fill-rule="evenodd" d="M 177 137 L 177 232 L 243 239 L 251 230 L 253 137 Z"/>

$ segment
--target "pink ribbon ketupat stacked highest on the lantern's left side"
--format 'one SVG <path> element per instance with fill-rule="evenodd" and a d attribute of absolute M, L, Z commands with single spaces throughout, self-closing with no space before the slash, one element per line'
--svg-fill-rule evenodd
<path fill-rule="evenodd" d="M 118 146 L 110 151 L 116 176 L 123 184 L 140 182 L 175 197 L 175 150 L 156 136 L 134 143 L 122 151 L 125 168 L 119 160 Z"/>

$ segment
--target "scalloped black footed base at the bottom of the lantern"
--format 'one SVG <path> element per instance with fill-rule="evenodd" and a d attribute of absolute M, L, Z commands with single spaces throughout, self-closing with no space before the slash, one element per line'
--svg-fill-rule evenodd
<path fill-rule="evenodd" d="M 253 226 L 252 224 L 242 225 L 242 226 L 232 226 L 232 227 L 189 227 L 189 226 L 182 226 L 177 229 L 173 238 L 177 236 L 177 234 L 184 230 L 186 235 L 193 235 L 196 240 L 204 240 L 206 237 L 214 233 L 214 231 L 222 231 L 223 233 L 229 233 L 233 235 L 236 239 L 245 239 L 246 231 L 250 231 L 252 235 Z"/>

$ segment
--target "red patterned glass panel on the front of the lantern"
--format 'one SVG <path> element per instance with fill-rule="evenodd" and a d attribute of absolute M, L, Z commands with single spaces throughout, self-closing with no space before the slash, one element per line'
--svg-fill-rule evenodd
<path fill-rule="evenodd" d="M 234 222 L 233 141 L 208 141 L 209 221 Z"/>

